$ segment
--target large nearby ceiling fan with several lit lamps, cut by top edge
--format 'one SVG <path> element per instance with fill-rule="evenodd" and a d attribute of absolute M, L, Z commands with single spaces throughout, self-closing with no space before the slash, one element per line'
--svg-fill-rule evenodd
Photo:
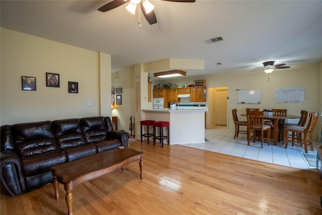
<path fill-rule="evenodd" d="M 179 2 L 179 3 L 194 3 L 196 0 L 162 0 L 167 2 Z M 102 6 L 98 10 L 101 12 L 107 12 L 110 10 L 113 10 L 114 8 L 117 8 L 119 6 L 122 6 L 126 3 L 128 3 L 128 6 L 126 6 L 126 9 L 131 12 L 132 14 L 135 14 L 135 9 L 137 4 L 139 4 L 139 27 L 141 28 L 141 17 L 140 17 L 140 10 L 142 11 L 145 19 L 150 25 L 153 25 L 156 23 L 156 17 L 155 13 L 153 11 L 154 6 L 148 1 L 148 0 L 113 0 L 112 2 Z"/>

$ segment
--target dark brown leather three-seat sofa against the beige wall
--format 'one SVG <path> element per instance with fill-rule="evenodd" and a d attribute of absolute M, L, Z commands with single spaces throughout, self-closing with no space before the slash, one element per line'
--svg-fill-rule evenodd
<path fill-rule="evenodd" d="M 52 182 L 53 165 L 129 146 L 129 133 L 95 116 L 1 126 L 1 182 L 11 195 Z M 82 165 L 82 164 L 79 164 Z"/>

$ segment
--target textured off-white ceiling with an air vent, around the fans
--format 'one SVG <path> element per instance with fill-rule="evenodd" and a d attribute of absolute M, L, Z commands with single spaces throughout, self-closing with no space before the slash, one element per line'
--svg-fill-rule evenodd
<path fill-rule="evenodd" d="M 1 27 L 112 55 L 112 72 L 165 58 L 204 59 L 188 76 L 322 61 L 322 1 L 150 2 L 157 23 L 142 28 L 127 4 L 110 1 L 1 1 Z M 222 37 L 206 44 L 204 40 Z M 221 62 L 221 65 L 217 65 Z"/>

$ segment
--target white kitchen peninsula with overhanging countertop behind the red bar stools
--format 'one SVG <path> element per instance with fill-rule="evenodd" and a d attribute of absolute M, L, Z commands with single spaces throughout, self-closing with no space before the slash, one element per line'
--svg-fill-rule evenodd
<path fill-rule="evenodd" d="M 142 120 L 170 122 L 170 145 L 205 143 L 205 108 L 146 109 L 142 111 Z"/>

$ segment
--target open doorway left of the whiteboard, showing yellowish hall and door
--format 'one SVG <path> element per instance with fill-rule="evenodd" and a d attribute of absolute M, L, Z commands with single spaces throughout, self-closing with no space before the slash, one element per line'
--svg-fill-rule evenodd
<path fill-rule="evenodd" d="M 228 125 L 228 87 L 214 87 L 208 89 L 207 126 Z"/>

